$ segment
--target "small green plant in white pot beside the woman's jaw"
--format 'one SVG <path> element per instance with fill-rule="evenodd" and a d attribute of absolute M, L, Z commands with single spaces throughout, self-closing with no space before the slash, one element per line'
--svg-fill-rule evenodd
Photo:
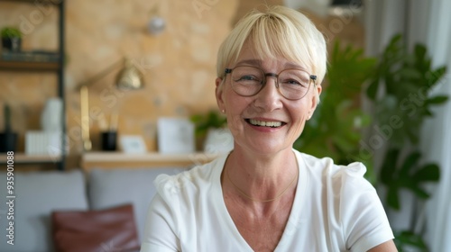
<path fill-rule="evenodd" d="M 234 137 L 227 129 L 226 117 L 211 110 L 206 114 L 191 116 L 195 124 L 196 138 L 203 142 L 203 150 L 207 153 L 224 153 L 234 148 Z"/>

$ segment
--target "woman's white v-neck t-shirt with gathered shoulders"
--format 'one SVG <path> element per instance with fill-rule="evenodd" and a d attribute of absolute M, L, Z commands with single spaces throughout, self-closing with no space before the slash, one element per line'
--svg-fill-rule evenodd
<path fill-rule="evenodd" d="M 332 159 L 293 150 L 299 182 L 275 251 L 367 251 L 393 238 L 382 203 L 361 163 L 336 166 Z M 226 156 L 178 175 L 159 175 L 142 252 L 253 251 L 224 202 L 221 173 Z"/>

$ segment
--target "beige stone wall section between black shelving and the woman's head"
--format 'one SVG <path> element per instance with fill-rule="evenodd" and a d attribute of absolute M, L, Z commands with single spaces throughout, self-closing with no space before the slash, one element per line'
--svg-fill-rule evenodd
<path fill-rule="evenodd" d="M 101 121 L 112 113 L 119 114 L 119 133 L 142 135 L 147 148 L 156 150 L 159 117 L 189 116 L 215 107 L 216 50 L 230 30 L 235 2 L 69 2 L 69 90 L 124 56 L 142 69 L 146 82 L 143 90 L 120 92 L 111 85 L 112 74 L 90 86 L 95 148 Z M 157 36 L 146 31 L 154 8 L 167 20 L 166 30 Z M 78 111 L 78 96 L 71 95 L 69 137 L 78 134 Z M 75 146 L 80 151 L 80 145 Z"/>

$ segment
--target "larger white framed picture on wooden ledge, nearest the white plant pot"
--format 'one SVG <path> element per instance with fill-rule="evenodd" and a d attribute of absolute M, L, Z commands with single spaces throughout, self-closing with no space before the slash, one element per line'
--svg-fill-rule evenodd
<path fill-rule="evenodd" d="M 158 150 L 165 154 L 196 151 L 194 123 L 186 118 L 160 118 L 157 122 Z"/>

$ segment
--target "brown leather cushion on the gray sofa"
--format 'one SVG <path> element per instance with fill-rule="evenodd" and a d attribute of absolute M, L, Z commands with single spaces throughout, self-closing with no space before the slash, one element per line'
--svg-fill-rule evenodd
<path fill-rule="evenodd" d="M 140 249 L 131 204 L 102 211 L 53 211 L 51 220 L 59 252 Z"/>

